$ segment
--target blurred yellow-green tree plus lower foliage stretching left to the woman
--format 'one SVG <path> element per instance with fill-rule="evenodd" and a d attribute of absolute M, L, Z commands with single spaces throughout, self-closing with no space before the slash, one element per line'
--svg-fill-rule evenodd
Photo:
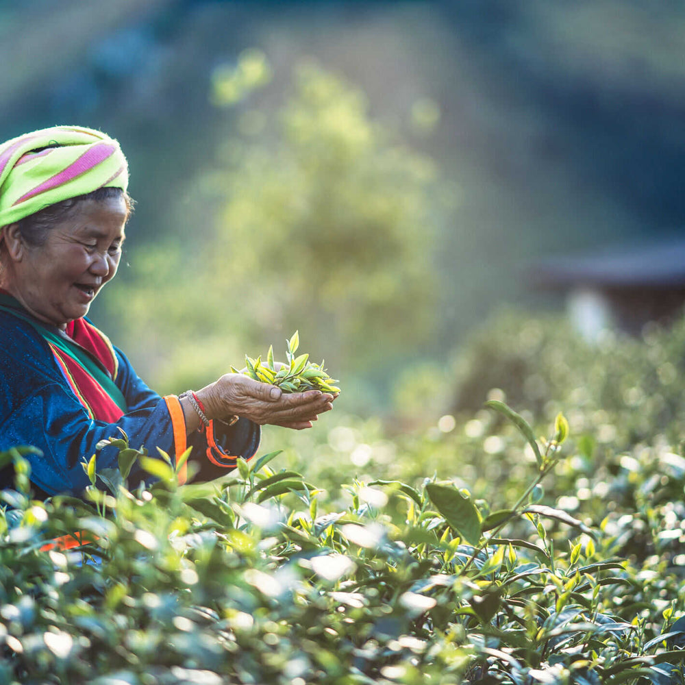
<path fill-rule="evenodd" d="M 244 86 L 246 69 L 264 82 L 239 63 L 214 79 L 214 101 L 238 92 L 226 79 Z M 242 135 L 217 145 L 217 168 L 179 199 L 190 245 L 136 249 L 134 279 L 111 294 L 131 324 L 121 332 L 139 341 L 146 321 L 157 334 L 148 353 L 162 386 L 241 364 L 240 345 L 278 351 L 297 328 L 332 375 L 382 384 L 432 334 L 434 164 L 373 121 L 360 90 L 312 64 L 271 116 L 244 94 L 228 100 Z"/>

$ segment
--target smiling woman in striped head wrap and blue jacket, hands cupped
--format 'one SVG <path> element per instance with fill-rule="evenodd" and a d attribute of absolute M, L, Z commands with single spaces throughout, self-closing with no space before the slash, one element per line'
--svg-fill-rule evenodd
<path fill-rule="evenodd" d="M 82 461 L 123 430 L 132 447 L 160 447 L 201 479 L 250 458 L 260 425 L 310 427 L 332 395 L 227 373 L 195 392 L 160 397 L 88 319 L 116 274 L 132 201 L 116 140 L 60 126 L 0 146 L 0 451 L 33 445 L 34 495 L 82 493 Z M 99 469 L 118 451 L 98 453 Z M 132 474 L 135 475 L 135 474 Z M 0 472 L 0 487 L 13 482 Z"/>

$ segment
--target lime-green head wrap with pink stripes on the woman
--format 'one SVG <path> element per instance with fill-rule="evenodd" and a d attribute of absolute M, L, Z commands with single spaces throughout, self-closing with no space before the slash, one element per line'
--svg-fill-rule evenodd
<path fill-rule="evenodd" d="M 78 126 L 27 133 L 0 145 L 0 227 L 98 188 L 127 185 L 128 165 L 114 138 Z"/>

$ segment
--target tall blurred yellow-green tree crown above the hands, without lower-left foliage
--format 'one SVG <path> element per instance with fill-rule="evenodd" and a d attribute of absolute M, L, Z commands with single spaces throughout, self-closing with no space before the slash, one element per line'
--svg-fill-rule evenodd
<path fill-rule="evenodd" d="M 212 271 L 228 261 L 244 301 L 262 296 L 246 314 L 264 333 L 301 326 L 338 362 L 425 339 L 432 164 L 369 119 L 359 90 L 311 65 L 277 123 L 227 175 Z"/>

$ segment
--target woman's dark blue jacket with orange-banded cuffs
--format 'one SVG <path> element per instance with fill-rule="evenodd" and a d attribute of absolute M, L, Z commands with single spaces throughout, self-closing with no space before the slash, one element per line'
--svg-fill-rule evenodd
<path fill-rule="evenodd" d="M 127 413 L 115 423 L 88 416 L 66 381 L 45 340 L 25 321 L 0 310 L 0 451 L 32 445 L 41 455 L 26 456 L 31 466 L 34 495 L 44 499 L 57 493 L 81 495 L 88 485 L 82 462 L 97 452 L 100 440 L 127 434 L 131 447 L 147 448 L 158 456 L 157 447 L 174 458 L 185 445 L 185 425 L 175 396 L 160 397 L 136 375 L 121 350 L 116 385 L 127 402 Z M 179 425 L 180 424 L 180 425 Z M 236 456 L 251 458 L 260 442 L 260 427 L 247 419 L 232 426 L 212 421 L 205 432 L 187 438 L 192 447 L 189 462 L 199 466 L 197 479 L 210 480 L 235 465 Z M 180 456 L 180 455 L 179 455 Z M 97 453 L 97 469 L 114 468 L 119 451 L 105 447 Z M 136 467 L 129 482 L 147 477 Z M 0 471 L 0 488 L 13 486 L 13 471 Z"/>

